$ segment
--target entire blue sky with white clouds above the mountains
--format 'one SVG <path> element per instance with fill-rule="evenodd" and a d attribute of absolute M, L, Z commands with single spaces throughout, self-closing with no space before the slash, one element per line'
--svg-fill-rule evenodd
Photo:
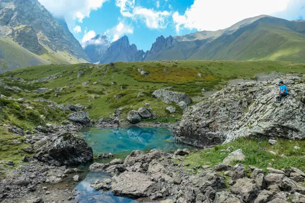
<path fill-rule="evenodd" d="M 113 42 L 127 35 L 149 50 L 163 35 L 227 28 L 261 14 L 305 19 L 305 0 L 38 0 L 55 17 L 65 17 L 84 47 L 97 34 Z M 102 43 L 102 42 L 101 42 Z"/>

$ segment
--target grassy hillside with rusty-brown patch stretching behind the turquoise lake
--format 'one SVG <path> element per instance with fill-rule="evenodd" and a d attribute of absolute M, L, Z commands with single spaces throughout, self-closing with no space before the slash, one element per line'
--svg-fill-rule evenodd
<path fill-rule="evenodd" d="M 150 72 L 141 76 L 138 68 Z M 84 75 L 77 78 L 79 71 Z M 138 109 L 145 103 L 150 103 L 152 112 L 160 121 L 175 121 L 179 119 L 182 110 L 168 114 L 165 108 L 168 104 L 152 98 L 153 91 L 173 87 L 174 91 L 186 92 L 190 97 L 202 97 L 202 88 L 209 90 L 221 89 L 231 79 L 254 79 L 261 72 L 305 72 L 305 64 L 288 62 L 224 62 L 224 61 L 162 61 L 162 62 L 131 62 L 114 65 L 44 65 L 10 71 L 0 75 L 9 86 L 16 86 L 31 93 L 14 93 L 0 86 L 0 92 L 5 96 L 25 98 L 33 101 L 38 98 L 48 99 L 59 104 L 82 103 L 88 107 L 90 116 L 108 116 L 116 108 L 123 107 L 123 115 L 129 110 Z M 200 78 L 198 74 L 201 73 Z M 57 74 L 58 78 L 43 83 L 31 81 Z M 9 77 L 19 77 L 26 82 L 11 82 Z M 83 84 L 88 82 L 88 85 Z M 43 94 L 32 93 L 37 88 L 49 88 L 52 91 Z M 55 94 L 55 88 L 63 88 Z M 138 97 L 139 93 L 142 93 Z M 123 97 L 115 100 L 115 95 Z"/>

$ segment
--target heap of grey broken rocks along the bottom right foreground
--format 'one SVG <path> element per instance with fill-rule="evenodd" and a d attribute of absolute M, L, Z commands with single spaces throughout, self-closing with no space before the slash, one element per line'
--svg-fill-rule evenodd
<path fill-rule="evenodd" d="M 302 185 L 305 174 L 297 168 L 285 171 L 269 168 L 270 173 L 266 174 L 249 166 L 252 173 L 248 175 L 242 164 L 220 163 L 185 170 L 176 160 L 188 153 L 187 150 L 175 154 L 151 150 L 145 154 L 135 150 L 125 161 L 94 163 L 91 171 L 104 171 L 113 177 L 99 180 L 91 187 L 151 201 L 172 197 L 166 203 L 288 203 L 290 198 L 294 203 L 305 201 Z"/>

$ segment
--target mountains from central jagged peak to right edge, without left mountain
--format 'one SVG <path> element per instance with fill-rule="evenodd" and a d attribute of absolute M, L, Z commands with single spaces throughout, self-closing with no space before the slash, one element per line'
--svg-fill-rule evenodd
<path fill-rule="evenodd" d="M 91 47 L 94 49 L 94 47 Z M 279 60 L 305 62 L 305 20 L 289 21 L 268 15 L 244 19 L 217 31 L 183 36 L 159 36 L 143 52 L 127 36 L 100 55 L 100 63 L 156 60 Z M 90 54 L 87 52 L 90 56 Z"/>

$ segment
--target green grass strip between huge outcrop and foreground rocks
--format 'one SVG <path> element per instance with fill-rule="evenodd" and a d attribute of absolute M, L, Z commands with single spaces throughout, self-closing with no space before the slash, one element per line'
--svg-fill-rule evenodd
<path fill-rule="evenodd" d="M 300 147 L 296 149 L 295 146 Z M 244 161 L 231 163 L 244 164 L 246 170 L 249 165 L 266 170 L 267 167 L 276 169 L 287 169 L 291 166 L 305 171 L 305 141 L 304 140 L 278 140 L 275 145 L 270 145 L 265 140 L 239 138 L 227 144 L 216 145 L 212 149 L 201 150 L 188 155 L 184 164 L 189 164 L 189 168 L 202 165 L 215 166 L 221 163 L 230 152 L 242 149 L 246 156 Z"/>

